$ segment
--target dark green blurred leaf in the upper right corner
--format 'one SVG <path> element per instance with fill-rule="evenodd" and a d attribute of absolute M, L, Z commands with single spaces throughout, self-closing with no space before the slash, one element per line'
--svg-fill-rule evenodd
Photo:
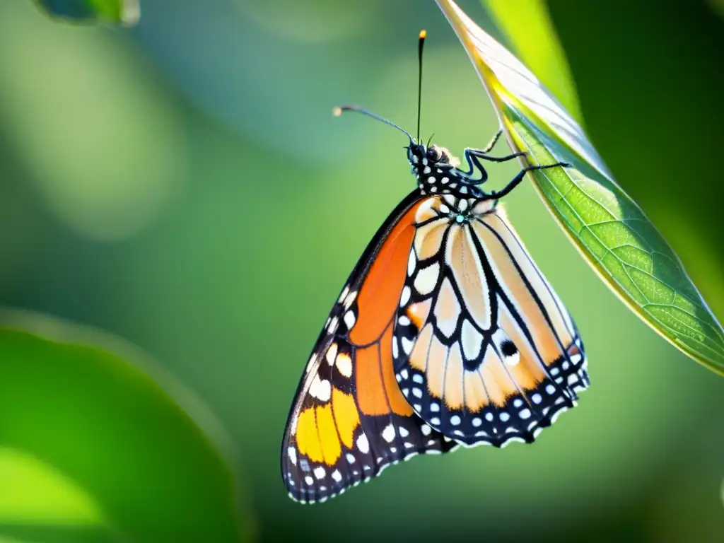
<path fill-rule="evenodd" d="M 547 0 L 547 6 L 576 79 L 588 137 L 724 322 L 716 198 L 724 132 L 712 122 L 724 119 L 724 21 L 701 2 Z"/>

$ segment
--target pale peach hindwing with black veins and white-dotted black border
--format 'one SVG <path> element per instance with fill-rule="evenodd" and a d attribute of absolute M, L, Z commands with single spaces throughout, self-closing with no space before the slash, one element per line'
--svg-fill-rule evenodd
<path fill-rule="evenodd" d="M 589 384 L 571 316 L 494 201 L 416 211 L 392 343 L 414 411 L 465 444 L 532 442 Z M 445 213 L 441 211 L 446 211 Z"/>

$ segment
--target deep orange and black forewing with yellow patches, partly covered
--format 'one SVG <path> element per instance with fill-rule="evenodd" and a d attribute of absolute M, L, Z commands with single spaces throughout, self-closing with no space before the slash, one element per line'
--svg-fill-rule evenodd
<path fill-rule="evenodd" d="M 282 444 L 290 497 L 324 502 L 390 463 L 457 445 L 413 413 L 392 369 L 392 329 L 421 200 L 392 212 L 355 266 L 319 334 Z"/>

